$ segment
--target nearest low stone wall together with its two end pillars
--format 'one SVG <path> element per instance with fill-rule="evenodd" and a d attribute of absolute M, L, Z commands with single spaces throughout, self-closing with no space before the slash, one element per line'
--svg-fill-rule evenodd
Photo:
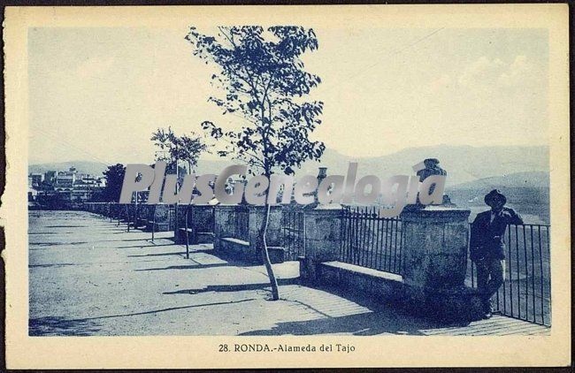
<path fill-rule="evenodd" d="M 306 255 L 300 261 L 304 281 L 393 301 L 434 320 L 482 316 L 479 293 L 464 285 L 469 210 L 429 206 L 403 212 L 403 276 L 338 262 L 339 214 L 306 211 Z"/>

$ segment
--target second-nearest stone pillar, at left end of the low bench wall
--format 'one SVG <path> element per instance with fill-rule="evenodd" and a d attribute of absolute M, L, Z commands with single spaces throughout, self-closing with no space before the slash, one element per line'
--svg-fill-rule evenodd
<path fill-rule="evenodd" d="M 305 257 L 300 259 L 300 277 L 314 281 L 318 278 L 319 263 L 337 261 L 341 245 L 340 205 L 319 205 L 304 209 Z"/>

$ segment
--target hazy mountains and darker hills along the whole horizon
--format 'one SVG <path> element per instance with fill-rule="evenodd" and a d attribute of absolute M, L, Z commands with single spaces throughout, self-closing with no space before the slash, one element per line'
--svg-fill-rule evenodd
<path fill-rule="evenodd" d="M 471 147 L 437 146 L 408 148 L 402 151 L 375 157 L 344 156 L 327 149 L 321 163 L 308 162 L 297 171 L 315 175 L 318 166 L 327 167 L 328 174 L 345 175 L 349 162 L 358 163 L 358 178 L 377 175 L 387 179 L 394 175 L 412 175 L 411 166 L 425 158 L 438 158 L 443 169 L 448 171 L 446 193 L 458 207 L 472 209 L 472 218 L 479 211 L 487 209 L 483 196 L 491 189 L 500 189 L 507 195 L 509 205 L 517 209 L 530 223 L 549 221 L 549 174 L 548 147 Z M 227 160 L 205 160 L 198 162 L 197 174 L 219 174 Z M 57 164 L 31 164 L 30 172 L 49 170 L 65 171 L 70 167 L 83 173 L 102 175 L 105 164 L 95 162 L 64 162 Z"/>

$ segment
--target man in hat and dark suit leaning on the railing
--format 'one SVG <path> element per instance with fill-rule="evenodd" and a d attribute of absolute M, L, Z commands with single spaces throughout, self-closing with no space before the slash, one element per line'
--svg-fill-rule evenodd
<path fill-rule="evenodd" d="M 479 213 L 472 223 L 470 256 L 477 267 L 484 317 L 489 318 L 493 311 L 491 297 L 505 278 L 505 229 L 510 224 L 522 225 L 523 219 L 513 209 L 503 207 L 507 198 L 497 189 L 489 192 L 484 201 L 491 209 Z"/>

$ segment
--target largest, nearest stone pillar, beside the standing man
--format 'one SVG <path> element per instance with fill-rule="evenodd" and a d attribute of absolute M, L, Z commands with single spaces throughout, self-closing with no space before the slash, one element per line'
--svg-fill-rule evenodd
<path fill-rule="evenodd" d="M 481 314 L 476 291 L 464 285 L 470 212 L 441 206 L 403 211 L 402 275 L 412 311 L 435 320 Z"/>

